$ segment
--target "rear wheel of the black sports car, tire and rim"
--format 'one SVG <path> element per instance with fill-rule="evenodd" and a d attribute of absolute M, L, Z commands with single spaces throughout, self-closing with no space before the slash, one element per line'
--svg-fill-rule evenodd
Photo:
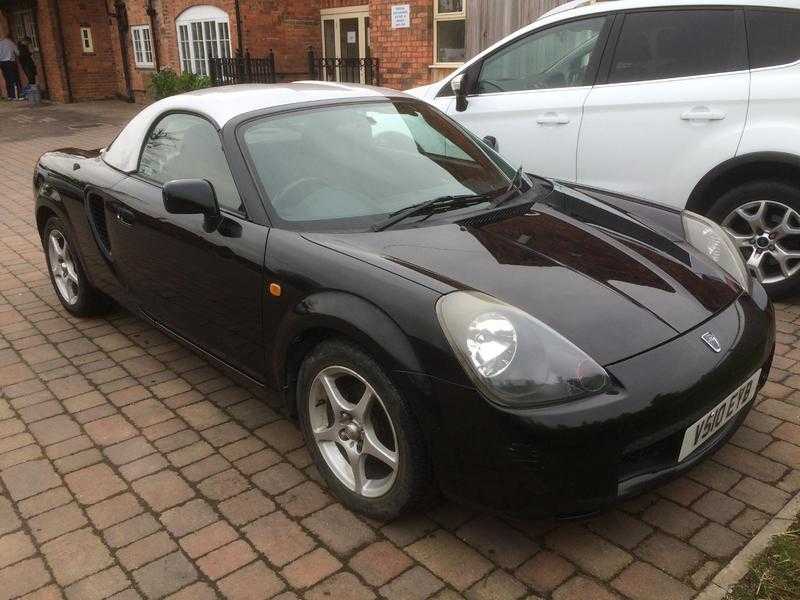
<path fill-rule="evenodd" d="M 42 230 L 50 283 L 62 306 L 76 317 L 105 314 L 112 306 L 111 299 L 89 283 L 77 256 L 77 247 L 64 222 L 50 217 Z"/>

